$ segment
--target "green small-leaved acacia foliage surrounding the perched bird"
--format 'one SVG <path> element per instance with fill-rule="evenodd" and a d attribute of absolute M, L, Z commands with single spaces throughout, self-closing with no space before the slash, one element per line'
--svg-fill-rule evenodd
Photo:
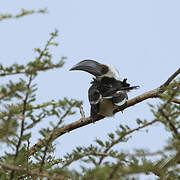
<path fill-rule="evenodd" d="M 44 12 L 39 10 L 38 13 Z M 35 11 L 21 14 L 1 15 L 0 20 L 18 18 Z M 149 104 L 154 116 L 152 120 L 136 120 L 137 126 L 131 129 L 128 125 L 119 128 L 107 135 L 107 140 L 100 138 L 88 147 L 76 147 L 71 153 L 61 158 L 54 156 L 56 145 L 54 140 L 67 132 L 64 119 L 73 115 L 80 108 L 82 102 L 62 98 L 58 101 L 50 100 L 41 104 L 37 103 L 36 92 L 38 85 L 34 80 L 40 71 L 62 68 L 65 57 L 58 62 L 52 61 L 50 46 L 57 46 L 54 42 L 58 31 L 50 34 L 50 38 L 43 49 L 35 48 L 37 54 L 34 60 L 26 65 L 12 64 L 5 67 L 0 64 L 0 77 L 21 77 L 18 81 L 10 80 L 0 86 L 0 179 L 137 179 L 139 174 L 153 174 L 156 179 L 180 179 L 180 79 L 175 79 L 156 98 L 160 101 L 157 105 Z M 163 87 L 164 88 L 164 87 Z M 164 92 L 164 93 L 163 93 Z M 39 129 L 42 138 L 32 145 L 32 133 L 39 123 L 46 119 L 56 119 L 56 124 L 49 123 L 47 127 Z M 81 119 L 86 125 L 87 119 Z M 76 123 L 76 122 L 75 122 Z M 136 149 L 133 152 L 122 151 L 118 145 L 126 143 L 134 136 L 134 132 L 147 129 L 152 124 L 163 124 L 171 136 L 164 149 L 149 152 Z M 80 128 L 79 126 L 78 128 Z M 70 129 L 73 130 L 73 129 Z M 68 135 L 68 134 L 66 134 Z M 156 157 L 156 158 L 154 158 Z M 81 171 L 72 170 L 71 164 L 79 162 Z M 80 163 L 81 162 L 81 163 Z"/>

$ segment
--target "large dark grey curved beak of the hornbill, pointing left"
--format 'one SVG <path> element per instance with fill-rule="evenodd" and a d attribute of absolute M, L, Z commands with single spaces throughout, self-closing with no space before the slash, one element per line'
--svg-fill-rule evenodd
<path fill-rule="evenodd" d="M 108 71 L 108 67 L 104 64 L 100 64 L 94 60 L 84 60 L 73 66 L 72 70 L 86 71 L 94 76 L 101 76 Z"/>

